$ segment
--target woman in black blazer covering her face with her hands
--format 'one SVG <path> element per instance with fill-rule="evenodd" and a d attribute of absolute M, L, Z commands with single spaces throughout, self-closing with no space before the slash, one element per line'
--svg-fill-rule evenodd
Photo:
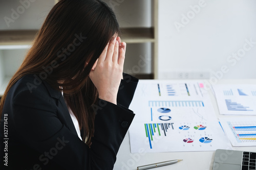
<path fill-rule="evenodd" d="M 0 103 L 1 169 L 113 169 L 138 82 L 118 32 L 100 0 L 53 7 Z"/>

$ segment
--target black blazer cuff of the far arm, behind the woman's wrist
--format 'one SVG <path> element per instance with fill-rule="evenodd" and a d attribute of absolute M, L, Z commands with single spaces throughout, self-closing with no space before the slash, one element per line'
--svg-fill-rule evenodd
<path fill-rule="evenodd" d="M 132 102 L 133 95 L 137 87 L 138 81 L 139 80 L 137 78 L 123 73 L 123 79 L 121 80 L 119 90 L 117 93 L 118 104 L 126 108 L 129 108 Z"/>

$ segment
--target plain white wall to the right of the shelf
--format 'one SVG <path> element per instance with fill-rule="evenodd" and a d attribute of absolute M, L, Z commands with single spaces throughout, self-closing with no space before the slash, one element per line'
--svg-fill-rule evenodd
<path fill-rule="evenodd" d="M 160 79 L 177 78 L 179 72 L 255 79 L 256 1 L 160 0 L 158 48 Z"/>

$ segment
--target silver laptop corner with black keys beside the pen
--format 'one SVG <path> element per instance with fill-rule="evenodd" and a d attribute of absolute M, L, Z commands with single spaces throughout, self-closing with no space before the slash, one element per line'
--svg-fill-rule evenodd
<path fill-rule="evenodd" d="M 255 152 L 216 150 L 212 170 L 256 169 L 255 159 Z"/>

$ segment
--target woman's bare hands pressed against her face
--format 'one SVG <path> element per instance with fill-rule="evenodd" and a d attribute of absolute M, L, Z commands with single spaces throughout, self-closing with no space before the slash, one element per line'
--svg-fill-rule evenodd
<path fill-rule="evenodd" d="M 99 92 L 99 98 L 117 104 L 117 92 L 122 79 L 125 42 L 120 37 L 110 41 L 101 53 L 89 77 Z"/>

